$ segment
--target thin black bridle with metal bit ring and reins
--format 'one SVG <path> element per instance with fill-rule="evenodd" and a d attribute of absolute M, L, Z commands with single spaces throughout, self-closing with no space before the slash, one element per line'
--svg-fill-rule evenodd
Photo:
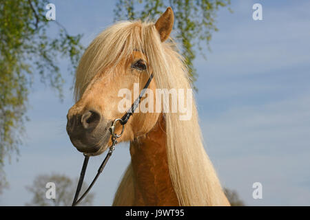
<path fill-rule="evenodd" d="M 87 193 L 90 192 L 90 189 L 92 188 L 92 186 L 94 186 L 94 183 L 98 179 L 99 175 L 103 172 L 103 169 L 105 168 L 105 164 L 107 164 L 107 161 L 110 159 L 110 157 L 111 157 L 111 155 L 112 155 L 112 153 L 113 153 L 113 151 L 115 149 L 115 145 L 118 144 L 117 139 L 119 137 L 121 137 L 121 135 L 123 135 L 123 132 L 124 132 L 124 129 L 125 129 L 125 124 L 128 122 L 128 120 L 130 119 L 130 116 L 132 116 L 132 114 L 134 113 L 134 111 L 138 107 L 139 103 L 141 102 L 141 98 L 145 94 L 145 90 L 147 89 L 147 87 L 149 87 L 149 83 L 151 83 L 152 78 L 153 78 L 153 74 L 151 74 L 149 76 L 149 79 L 147 80 L 147 83 L 145 84 L 145 86 L 141 90 L 141 93 L 140 93 L 139 97 L 136 98 L 136 100 L 134 100 L 134 103 L 132 103 L 132 107 L 127 110 L 125 115 L 123 115 L 122 118 L 116 118 L 112 122 L 112 125 L 109 128 L 109 131 L 111 133 L 111 141 L 112 141 L 112 144 L 109 147 L 109 151 L 107 152 L 107 155 L 105 156 L 105 159 L 103 159 L 102 164 L 99 166 L 97 174 L 94 177 L 94 179 L 92 180 L 92 183 L 87 188 L 87 190 L 85 190 L 83 195 L 79 198 L 79 194 L 80 194 L 80 191 L 81 191 L 81 188 L 82 188 L 82 185 L 83 185 L 83 180 L 84 180 L 84 176 L 85 176 L 88 160 L 90 159 L 90 156 L 86 155 L 84 153 L 84 162 L 83 162 L 83 166 L 82 166 L 82 170 L 81 170 L 78 186 L 76 187 L 76 192 L 75 192 L 75 195 L 74 195 L 72 206 L 76 206 L 87 195 Z M 121 124 L 121 126 L 122 126 L 122 131 L 121 131 L 121 133 L 118 133 L 118 134 L 114 132 L 117 122 L 119 122 Z"/>

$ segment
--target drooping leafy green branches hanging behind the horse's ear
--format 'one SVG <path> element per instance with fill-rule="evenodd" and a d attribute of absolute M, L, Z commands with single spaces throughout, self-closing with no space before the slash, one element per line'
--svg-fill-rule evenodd
<path fill-rule="evenodd" d="M 175 37 L 180 41 L 180 49 L 194 86 L 198 77 L 193 66 L 195 48 L 205 56 L 203 43 L 209 49 L 212 32 L 218 31 L 215 24 L 216 12 L 229 4 L 230 0 L 117 0 L 114 19 L 153 19 L 171 6 L 174 10 Z"/>

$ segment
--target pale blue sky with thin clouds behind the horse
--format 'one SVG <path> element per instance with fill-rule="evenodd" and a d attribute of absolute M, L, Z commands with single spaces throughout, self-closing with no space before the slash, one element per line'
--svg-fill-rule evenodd
<path fill-rule="evenodd" d="M 113 23 L 114 1 L 51 1 L 56 20 L 70 34 L 83 33 L 82 43 Z M 211 51 L 194 61 L 195 94 L 205 149 L 221 184 L 238 192 L 248 206 L 310 205 L 310 2 L 233 1 L 221 9 Z M 262 4 L 262 21 L 252 6 Z M 66 80 L 64 101 L 56 92 L 34 83 L 29 96 L 25 145 L 4 170 L 10 188 L 1 206 L 23 206 L 32 199 L 25 186 L 39 174 L 76 178 L 83 155 L 65 131 L 66 114 L 74 104 L 68 60 L 59 60 Z M 90 159 L 90 183 L 104 155 Z M 121 175 L 130 162 L 128 144 L 116 146 L 92 192 L 94 205 L 110 206 Z M 252 197 L 255 182 L 262 199 Z"/>

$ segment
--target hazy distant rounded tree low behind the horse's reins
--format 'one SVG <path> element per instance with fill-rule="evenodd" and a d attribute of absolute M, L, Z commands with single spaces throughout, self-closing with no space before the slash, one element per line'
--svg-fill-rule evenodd
<path fill-rule="evenodd" d="M 33 197 L 30 203 L 26 203 L 26 206 L 71 206 L 74 198 L 78 178 L 70 179 L 65 175 L 52 174 L 52 175 L 38 175 L 32 186 L 26 186 L 29 192 L 32 192 Z M 56 198 L 47 199 L 45 197 L 45 192 L 48 188 L 45 188 L 48 182 L 52 182 L 56 186 Z M 83 184 L 81 192 L 87 189 L 87 184 Z M 94 194 L 89 193 L 87 196 L 79 203 L 79 206 L 92 206 L 92 201 L 94 199 Z"/>

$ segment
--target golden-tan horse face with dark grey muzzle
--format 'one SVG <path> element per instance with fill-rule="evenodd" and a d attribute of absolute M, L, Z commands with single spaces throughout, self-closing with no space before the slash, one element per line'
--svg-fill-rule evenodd
<path fill-rule="evenodd" d="M 124 100 L 131 106 L 137 98 L 134 95 L 134 87 L 139 88 L 140 94 L 149 78 L 147 65 L 147 58 L 137 50 L 133 51 L 127 60 L 94 76 L 81 99 L 67 115 L 67 132 L 72 144 L 79 151 L 99 155 L 112 144 L 109 128 L 113 120 L 121 118 L 129 109 L 123 109 Z M 155 87 L 152 80 L 149 89 L 154 90 Z M 124 94 L 124 91 L 127 91 L 127 94 Z M 157 118 L 158 113 L 134 113 L 118 140 L 129 141 L 139 133 L 146 133 L 152 129 Z M 121 126 L 117 125 L 116 133 L 119 133 Z"/>

